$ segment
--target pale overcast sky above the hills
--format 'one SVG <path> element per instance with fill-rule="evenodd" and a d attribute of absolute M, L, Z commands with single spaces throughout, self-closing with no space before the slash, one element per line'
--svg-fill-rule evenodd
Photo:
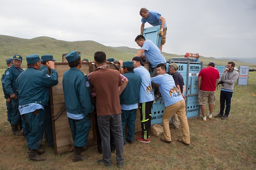
<path fill-rule="evenodd" d="M 142 7 L 166 19 L 166 53 L 256 57 L 256 0 L 0 0 L 0 35 L 139 49 Z"/>

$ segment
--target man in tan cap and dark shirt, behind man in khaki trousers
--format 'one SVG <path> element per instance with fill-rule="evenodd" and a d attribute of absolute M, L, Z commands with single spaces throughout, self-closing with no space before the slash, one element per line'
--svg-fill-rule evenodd
<path fill-rule="evenodd" d="M 179 66 L 176 63 L 169 64 L 169 72 L 173 76 L 175 86 L 180 91 L 184 100 L 186 100 L 186 97 L 184 95 L 184 93 L 185 93 L 185 84 L 184 84 L 182 75 L 177 71 L 178 68 L 179 68 Z M 178 119 L 178 115 L 176 113 L 171 118 L 171 121 L 172 121 L 171 128 L 178 129 L 179 126 L 180 126 L 180 120 Z"/>

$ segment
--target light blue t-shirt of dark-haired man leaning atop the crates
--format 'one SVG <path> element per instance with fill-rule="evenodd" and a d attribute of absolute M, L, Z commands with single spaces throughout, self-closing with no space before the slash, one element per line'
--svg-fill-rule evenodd
<path fill-rule="evenodd" d="M 145 50 L 145 57 L 152 68 L 155 68 L 160 63 L 166 63 L 166 59 L 161 54 L 160 49 L 151 40 L 145 40 L 141 49 Z"/>

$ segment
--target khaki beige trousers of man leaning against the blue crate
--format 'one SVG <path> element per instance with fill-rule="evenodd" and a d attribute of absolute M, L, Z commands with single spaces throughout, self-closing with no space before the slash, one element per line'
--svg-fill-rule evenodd
<path fill-rule="evenodd" d="M 190 144 L 190 129 L 187 123 L 187 116 L 186 116 L 186 104 L 184 100 L 174 103 L 173 105 L 167 106 L 164 109 L 164 116 L 163 116 L 163 128 L 164 128 L 164 137 L 165 140 L 171 141 L 171 132 L 169 128 L 169 121 L 174 114 L 178 115 L 180 119 L 180 126 L 182 131 L 182 138 L 183 142 L 186 144 Z"/>

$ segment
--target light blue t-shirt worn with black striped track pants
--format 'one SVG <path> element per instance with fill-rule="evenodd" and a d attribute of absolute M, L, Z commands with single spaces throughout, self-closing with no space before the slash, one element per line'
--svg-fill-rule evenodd
<path fill-rule="evenodd" d="M 140 86 L 140 99 L 139 103 L 150 102 L 154 100 L 154 93 L 151 86 L 151 79 L 149 71 L 144 68 L 142 65 L 133 70 L 135 73 L 141 77 L 141 86 Z"/>

